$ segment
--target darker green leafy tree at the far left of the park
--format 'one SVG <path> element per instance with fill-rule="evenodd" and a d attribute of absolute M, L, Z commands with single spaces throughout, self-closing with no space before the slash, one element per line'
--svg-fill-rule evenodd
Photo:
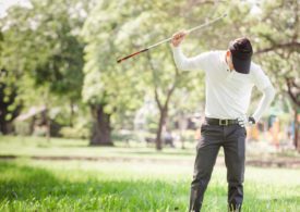
<path fill-rule="evenodd" d="M 44 87 L 41 96 L 69 101 L 71 109 L 80 102 L 84 47 L 80 32 L 87 10 L 88 3 L 79 0 L 33 0 L 28 8 L 11 8 L 0 21 L 1 67 L 19 78 L 14 85 L 24 102 L 33 103 L 24 99 L 25 80 L 33 80 L 35 88 Z M 46 99 L 44 104 L 51 108 Z"/>

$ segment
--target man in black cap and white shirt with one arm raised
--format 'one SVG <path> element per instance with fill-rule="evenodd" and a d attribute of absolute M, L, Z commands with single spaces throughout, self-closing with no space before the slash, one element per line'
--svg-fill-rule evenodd
<path fill-rule="evenodd" d="M 253 51 L 248 38 L 231 41 L 227 51 L 209 51 L 188 59 L 180 49 L 185 36 L 185 32 L 172 36 L 175 62 L 183 71 L 204 71 L 206 86 L 205 122 L 196 146 L 190 211 L 201 210 L 220 147 L 227 167 L 228 210 L 241 211 L 245 126 L 260 120 L 274 99 L 275 90 L 262 68 L 251 62 Z M 263 97 L 253 115 L 247 116 L 253 86 Z"/>

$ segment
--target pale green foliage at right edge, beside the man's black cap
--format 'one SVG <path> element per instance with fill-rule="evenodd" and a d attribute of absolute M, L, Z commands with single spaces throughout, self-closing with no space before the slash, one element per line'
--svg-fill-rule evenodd
<path fill-rule="evenodd" d="M 261 10 L 249 29 L 255 36 L 254 60 L 262 64 L 275 85 L 278 93 L 275 107 L 290 112 L 295 102 L 287 95 L 287 79 L 293 78 L 299 84 L 300 78 L 299 1 L 265 0 Z"/>

